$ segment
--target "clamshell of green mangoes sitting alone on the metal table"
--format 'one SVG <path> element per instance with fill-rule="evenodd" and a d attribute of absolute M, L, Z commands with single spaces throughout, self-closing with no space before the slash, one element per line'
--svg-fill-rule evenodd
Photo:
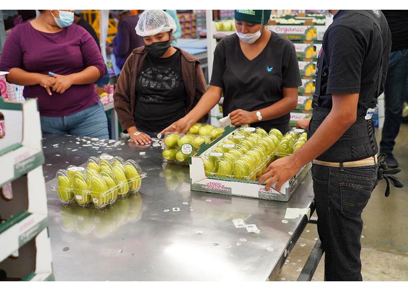
<path fill-rule="evenodd" d="M 70 165 L 57 171 L 52 188 L 63 204 L 104 208 L 118 198 L 137 193 L 146 177 L 137 162 L 102 154 L 90 157 L 86 168 Z"/>

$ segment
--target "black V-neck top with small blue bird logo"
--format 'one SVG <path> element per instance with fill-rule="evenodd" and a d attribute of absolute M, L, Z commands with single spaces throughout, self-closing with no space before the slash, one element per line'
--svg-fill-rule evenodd
<path fill-rule="evenodd" d="M 283 98 L 284 87 L 302 85 L 295 48 L 288 39 L 271 32 L 265 49 L 250 61 L 241 50 L 238 36 L 227 36 L 215 49 L 210 85 L 222 88 L 224 116 L 237 109 L 255 111 L 271 106 Z M 289 120 L 287 113 L 252 126 L 286 132 Z"/>

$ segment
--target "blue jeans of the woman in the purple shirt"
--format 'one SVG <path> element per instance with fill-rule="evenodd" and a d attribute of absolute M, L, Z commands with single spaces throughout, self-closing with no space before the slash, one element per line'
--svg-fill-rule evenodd
<path fill-rule="evenodd" d="M 70 134 L 74 136 L 109 138 L 108 121 L 101 102 L 83 111 L 62 116 L 40 116 L 41 130 L 55 135 Z"/>

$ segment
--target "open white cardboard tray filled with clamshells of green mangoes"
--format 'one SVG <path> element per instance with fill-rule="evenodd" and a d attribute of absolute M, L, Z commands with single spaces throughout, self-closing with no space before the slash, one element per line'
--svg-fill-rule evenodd
<path fill-rule="evenodd" d="M 190 164 L 191 190 L 266 200 L 288 201 L 305 178 L 310 164 L 282 187 L 281 192 L 265 190 L 257 180 L 268 165 L 296 152 L 306 143 L 303 129 L 292 129 L 285 135 L 278 129 L 228 127 L 210 145 L 203 145 Z"/>

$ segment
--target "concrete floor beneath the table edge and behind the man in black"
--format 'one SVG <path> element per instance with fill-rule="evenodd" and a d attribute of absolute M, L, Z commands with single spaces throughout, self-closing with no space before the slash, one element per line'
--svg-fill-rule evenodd
<path fill-rule="evenodd" d="M 379 143 L 381 130 L 376 132 L 376 136 Z M 385 197 L 386 183 L 380 181 L 363 211 L 361 273 L 365 281 L 408 280 L 408 124 L 401 126 L 395 142 L 394 156 L 402 169 L 397 176 L 406 187 L 391 187 L 391 195 Z M 317 238 L 316 225 L 309 224 L 290 253 L 277 281 L 296 281 Z M 313 281 L 323 281 L 323 261 L 324 257 Z"/>

